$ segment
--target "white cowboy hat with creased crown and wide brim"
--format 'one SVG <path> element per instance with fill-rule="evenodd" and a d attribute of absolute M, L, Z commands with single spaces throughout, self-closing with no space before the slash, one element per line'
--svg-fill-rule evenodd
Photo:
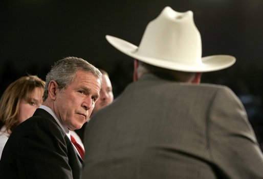
<path fill-rule="evenodd" d="M 192 11 L 180 13 L 165 7 L 156 19 L 148 23 L 139 47 L 109 35 L 106 39 L 130 57 L 171 70 L 207 72 L 235 63 L 235 57 L 229 55 L 202 58 L 201 36 Z"/>

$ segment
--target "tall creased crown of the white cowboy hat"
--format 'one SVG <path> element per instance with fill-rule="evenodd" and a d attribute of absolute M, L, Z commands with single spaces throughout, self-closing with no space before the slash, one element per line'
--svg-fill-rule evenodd
<path fill-rule="evenodd" d="M 192 11 L 179 13 L 166 7 L 160 16 L 147 25 L 135 54 L 199 64 L 202 57 L 201 45 L 200 33 L 193 22 Z"/>

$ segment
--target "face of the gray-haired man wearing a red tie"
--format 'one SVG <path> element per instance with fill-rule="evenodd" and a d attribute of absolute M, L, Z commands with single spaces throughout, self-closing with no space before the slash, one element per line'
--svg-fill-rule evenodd
<path fill-rule="evenodd" d="M 80 129 L 90 118 L 99 91 L 100 81 L 94 74 L 77 71 L 71 84 L 56 90 L 55 114 L 69 130 Z"/>

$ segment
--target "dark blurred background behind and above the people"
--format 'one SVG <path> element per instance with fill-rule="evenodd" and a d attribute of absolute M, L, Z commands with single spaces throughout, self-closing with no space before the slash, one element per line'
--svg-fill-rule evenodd
<path fill-rule="evenodd" d="M 227 85 L 238 95 L 262 141 L 262 0 L 2 0 L 0 95 L 21 75 L 45 80 L 55 61 L 75 56 L 105 69 L 117 97 L 132 81 L 133 60 L 109 45 L 105 35 L 139 45 L 147 23 L 165 6 L 193 11 L 203 56 L 236 57 L 234 66 L 204 73 L 202 79 Z"/>

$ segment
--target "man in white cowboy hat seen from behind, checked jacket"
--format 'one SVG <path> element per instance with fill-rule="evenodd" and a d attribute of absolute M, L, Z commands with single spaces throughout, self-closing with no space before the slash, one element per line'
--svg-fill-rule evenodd
<path fill-rule="evenodd" d="M 89 122 L 82 178 L 263 178 L 242 103 L 225 86 L 200 84 L 235 58 L 202 57 L 191 11 L 166 7 L 139 47 L 106 39 L 135 58 L 135 82 Z"/>

